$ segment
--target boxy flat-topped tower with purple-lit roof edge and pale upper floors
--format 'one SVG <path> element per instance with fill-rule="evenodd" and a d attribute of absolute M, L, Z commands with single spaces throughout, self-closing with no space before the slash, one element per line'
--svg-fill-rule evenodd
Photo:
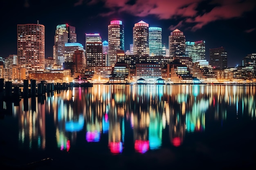
<path fill-rule="evenodd" d="M 103 49 L 99 33 L 85 34 L 85 46 L 86 66 L 103 66 Z"/>

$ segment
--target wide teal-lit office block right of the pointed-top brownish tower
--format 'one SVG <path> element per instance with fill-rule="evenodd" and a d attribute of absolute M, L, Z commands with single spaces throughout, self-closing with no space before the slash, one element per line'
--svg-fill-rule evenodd
<path fill-rule="evenodd" d="M 193 62 L 196 62 L 197 60 L 204 60 L 205 59 L 205 41 L 196 41 L 196 42 L 190 42 L 187 41 L 185 48 L 185 53 L 189 57 L 192 58 Z"/>

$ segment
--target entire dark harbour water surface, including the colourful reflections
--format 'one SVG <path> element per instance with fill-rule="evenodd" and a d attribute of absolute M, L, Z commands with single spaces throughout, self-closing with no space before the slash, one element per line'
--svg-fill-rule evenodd
<path fill-rule="evenodd" d="M 256 86 L 94 85 L 4 108 L 0 169 L 256 168 Z"/>

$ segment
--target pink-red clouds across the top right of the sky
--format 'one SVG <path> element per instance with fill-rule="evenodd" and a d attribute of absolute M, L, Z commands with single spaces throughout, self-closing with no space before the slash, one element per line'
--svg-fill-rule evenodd
<path fill-rule="evenodd" d="M 121 12 L 138 17 L 155 15 L 161 20 L 182 20 L 175 26 L 171 25 L 169 29 L 193 24 L 192 31 L 217 20 L 242 17 L 245 12 L 252 11 L 256 6 L 255 0 L 136 0 L 134 4 L 128 4 L 129 0 L 91 0 L 88 4 L 97 4 L 99 1 L 104 2 L 106 9 L 110 9 L 110 12 L 101 13 L 101 16 Z M 202 14 L 200 12 L 206 10 L 198 9 L 201 2 L 208 2 L 208 5 L 215 7 Z"/>

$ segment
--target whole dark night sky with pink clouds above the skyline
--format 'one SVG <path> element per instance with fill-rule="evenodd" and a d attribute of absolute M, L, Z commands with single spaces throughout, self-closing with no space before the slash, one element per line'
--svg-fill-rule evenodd
<path fill-rule="evenodd" d="M 162 28 L 162 43 L 180 29 L 186 41 L 206 41 L 209 49 L 223 46 L 228 66 L 242 65 L 256 53 L 255 0 L 3 0 L 0 5 L 0 56 L 17 54 L 17 24 L 45 26 L 45 57 L 52 56 L 58 24 L 76 27 L 77 42 L 85 46 L 85 33 L 100 33 L 108 40 L 108 24 L 122 20 L 125 51 L 132 44 L 132 27 L 143 20 Z"/>

